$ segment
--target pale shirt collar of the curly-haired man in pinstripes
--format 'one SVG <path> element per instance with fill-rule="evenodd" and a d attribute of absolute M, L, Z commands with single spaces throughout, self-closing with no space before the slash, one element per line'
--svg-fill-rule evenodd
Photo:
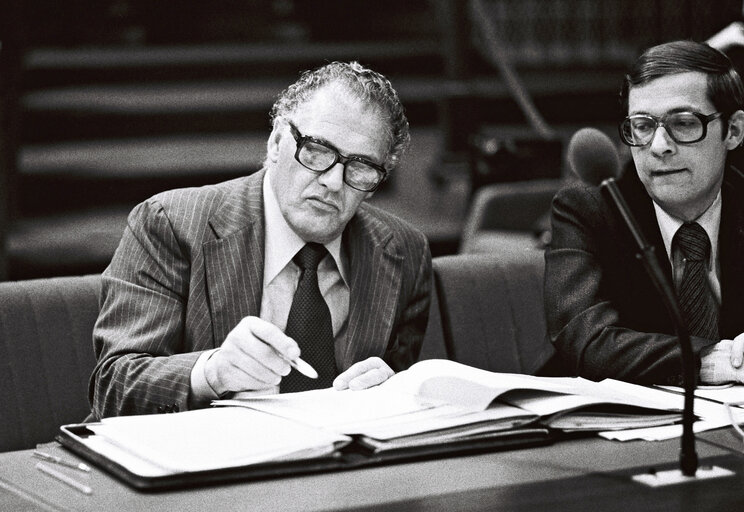
<path fill-rule="evenodd" d="M 279 209 L 279 202 L 271 187 L 271 172 L 264 176 L 263 196 L 266 223 L 264 234 L 264 286 L 266 286 L 292 261 L 297 251 L 305 245 L 305 241 L 287 224 Z M 341 278 L 348 286 L 347 269 L 341 257 L 341 235 L 324 245 L 333 257 Z M 327 261 L 324 259 L 321 267 L 327 265 Z"/>

